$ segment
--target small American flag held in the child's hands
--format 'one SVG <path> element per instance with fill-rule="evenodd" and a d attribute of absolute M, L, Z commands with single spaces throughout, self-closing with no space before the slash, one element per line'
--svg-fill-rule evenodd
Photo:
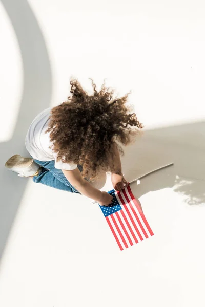
<path fill-rule="evenodd" d="M 130 185 L 121 191 L 111 190 L 112 204 L 100 206 L 120 248 L 124 250 L 154 235 Z"/>

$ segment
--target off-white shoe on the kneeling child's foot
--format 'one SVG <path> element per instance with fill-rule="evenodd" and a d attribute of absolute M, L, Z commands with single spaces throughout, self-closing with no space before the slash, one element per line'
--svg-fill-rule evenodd
<path fill-rule="evenodd" d="M 40 166 L 32 158 L 14 155 L 5 163 L 7 169 L 17 172 L 20 177 L 34 177 L 41 172 Z"/>

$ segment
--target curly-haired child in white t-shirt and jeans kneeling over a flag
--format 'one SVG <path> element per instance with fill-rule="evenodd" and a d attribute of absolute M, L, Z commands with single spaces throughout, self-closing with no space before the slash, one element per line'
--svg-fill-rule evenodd
<path fill-rule="evenodd" d="M 92 80 L 92 79 L 91 79 Z M 112 173 L 114 189 L 124 189 L 116 140 L 133 143 L 142 124 L 126 107 L 128 94 L 113 99 L 105 88 L 99 92 L 92 80 L 94 95 L 89 96 L 76 79 L 70 81 L 72 96 L 67 101 L 47 108 L 32 121 L 25 139 L 29 158 L 12 156 L 5 166 L 18 176 L 31 177 L 34 182 L 79 193 L 100 205 L 112 203 L 110 194 L 94 188 L 89 181 L 97 178 L 100 169 Z M 134 138 L 133 138 L 134 137 Z"/>

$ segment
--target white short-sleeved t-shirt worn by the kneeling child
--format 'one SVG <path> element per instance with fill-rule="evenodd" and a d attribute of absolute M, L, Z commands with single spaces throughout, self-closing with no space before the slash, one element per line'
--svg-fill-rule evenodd
<path fill-rule="evenodd" d="M 77 168 L 77 164 L 74 162 L 63 163 L 61 160 L 56 161 L 57 153 L 52 151 L 49 146 L 53 143 L 50 141 L 50 132 L 45 134 L 48 129 L 49 116 L 51 107 L 40 112 L 32 121 L 26 138 L 25 146 L 30 155 L 39 161 L 52 161 L 55 160 L 55 168 L 72 170 Z"/>

